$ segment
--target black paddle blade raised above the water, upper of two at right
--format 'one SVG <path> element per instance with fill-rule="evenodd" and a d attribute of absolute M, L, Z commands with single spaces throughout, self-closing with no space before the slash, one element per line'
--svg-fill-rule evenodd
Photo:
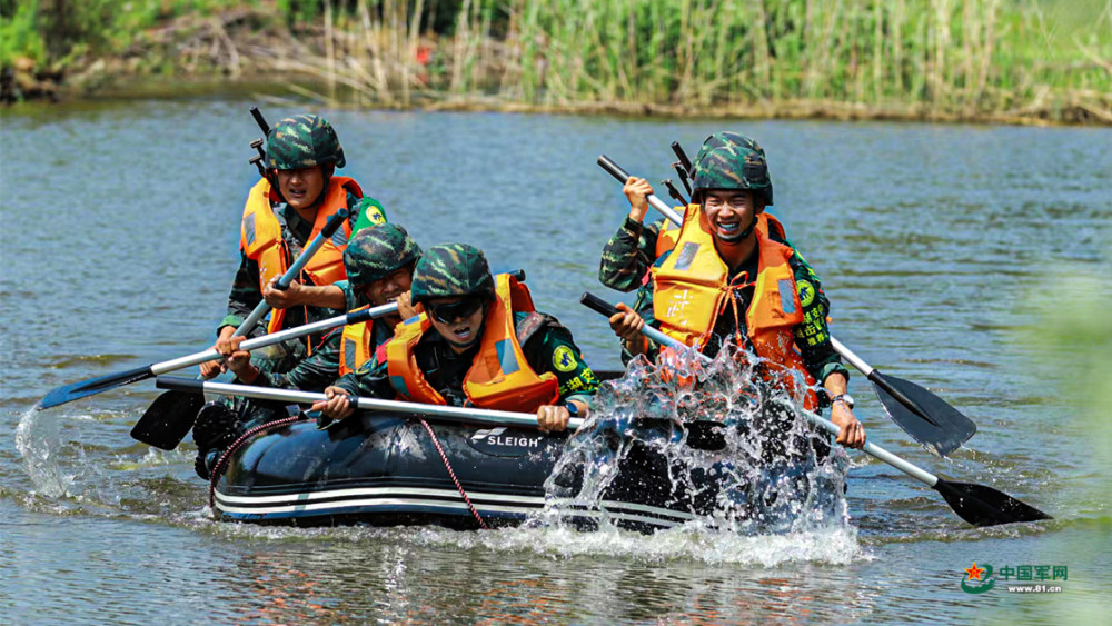
<path fill-rule="evenodd" d="M 892 421 L 926 449 L 944 457 L 976 433 L 976 424 L 914 382 L 874 370 L 873 387 Z M 901 401 L 903 400 L 903 401 Z"/>

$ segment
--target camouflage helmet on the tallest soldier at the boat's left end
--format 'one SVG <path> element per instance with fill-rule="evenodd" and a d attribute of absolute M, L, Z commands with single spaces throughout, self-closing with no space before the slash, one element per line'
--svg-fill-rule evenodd
<path fill-rule="evenodd" d="M 299 115 L 279 121 L 267 135 L 267 167 L 298 169 L 347 163 L 336 130 L 320 116 Z"/>

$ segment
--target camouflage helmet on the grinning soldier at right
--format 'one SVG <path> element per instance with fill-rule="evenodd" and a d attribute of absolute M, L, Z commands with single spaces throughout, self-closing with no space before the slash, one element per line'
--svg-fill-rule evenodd
<path fill-rule="evenodd" d="M 748 137 L 712 135 L 699 150 L 694 169 L 692 195 L 696 198 L 708 189 L 748 189 L 762 196 L 765 205 L 773 203 L 764 150 Z"/>

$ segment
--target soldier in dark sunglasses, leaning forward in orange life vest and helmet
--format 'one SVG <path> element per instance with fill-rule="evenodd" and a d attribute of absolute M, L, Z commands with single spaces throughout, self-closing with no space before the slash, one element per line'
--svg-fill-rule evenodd
<path fill-rule="evenodd" d="M 411 302 L 425 314 L 395 329 L 394 339 L 314 405 L 342 419 L 348 396 L 423 404 L 535 411 L 540 429 L 564 430 L 586 417 L 598 378 L 567 328 L 537 312 L 515 277 L 490 275 L 483 251 L 466 244 L 434 246 L 417 261 Z"/>

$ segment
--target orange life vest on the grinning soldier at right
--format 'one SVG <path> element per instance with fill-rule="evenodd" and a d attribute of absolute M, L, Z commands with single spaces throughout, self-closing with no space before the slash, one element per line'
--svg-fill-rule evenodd
<path fill-rule="evenodd" d="M 803 306 L 788 265 L 793 250 L 770 239 L 767 228 L 756 229 L 756 237 L 759 258 L 753 301 L 745 311 L 746 335 L 767 365 L 798 372 L 811 387 L 815 380 L 795 349 L 792 334 L 792 328 L 803 322 Z M 729 305 L 732 287 L 729 269 L 714 248 L 714 236 L 698 206 L 688 207 L 675 249 L 652 272 L 653 315 L 661 330 L 702 349 L 718 315 Z M 814 391 L 807 391 L 805 404 L 811 409 L 817 405 Z"/>

